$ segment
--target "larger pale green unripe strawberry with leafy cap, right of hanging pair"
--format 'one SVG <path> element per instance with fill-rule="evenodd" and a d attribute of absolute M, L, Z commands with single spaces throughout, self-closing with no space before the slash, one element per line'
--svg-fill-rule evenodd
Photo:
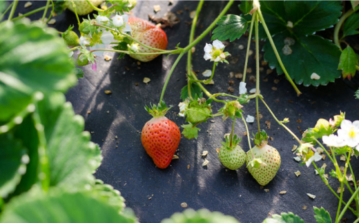
<path fill-rule="evenodd" d="M 246 165 L 249 173 L 258 184 L 265 186 L 275 177 L 280 168 L 280 154 L 267 144 L 268 136 L 264 132 L 257 133 L 254 138 L 255 146 L 247 152 Z"/>

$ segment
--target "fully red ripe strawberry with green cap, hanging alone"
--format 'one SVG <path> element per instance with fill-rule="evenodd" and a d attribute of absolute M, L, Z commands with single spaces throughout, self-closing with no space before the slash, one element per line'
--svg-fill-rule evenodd
<path fill-rule="evenodd" d="M 168 109 L 164 101 L 152 106 L 152 110 L 146 106 L 153 118 L 142 128 L 142 145 L 159 168 L 166 168 L 171 163 L 181 139 L 178 126 L 164 116 Z"/>

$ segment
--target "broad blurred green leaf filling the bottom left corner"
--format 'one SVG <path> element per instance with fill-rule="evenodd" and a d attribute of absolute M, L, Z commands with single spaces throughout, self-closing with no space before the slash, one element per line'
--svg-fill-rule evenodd
<path fill-rule="evenodd" d="M 137 222 L 87 193 L 64 193 L 56 189 L 43 195 L 29 191 L 14 197 L 3 211 L 0 222 Z"/>

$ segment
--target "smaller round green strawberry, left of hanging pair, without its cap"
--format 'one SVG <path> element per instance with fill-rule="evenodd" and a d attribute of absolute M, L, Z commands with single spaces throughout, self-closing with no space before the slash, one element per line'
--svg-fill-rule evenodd
<path fill-rule="evenodd" d="M 244 153 L 239 145 L 232 146 L 232 148 L 224 145 L 221 146 L 218 157 L 220 157 L 220 162 L 223 166 L 233 171 L 240 168 L 246 162 L 246 153 Z"/>

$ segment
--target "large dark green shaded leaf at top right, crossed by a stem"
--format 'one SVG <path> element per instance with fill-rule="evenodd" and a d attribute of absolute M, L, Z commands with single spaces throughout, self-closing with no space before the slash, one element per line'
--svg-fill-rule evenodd
<path fill-rule="evenodd" d="M 261 6 L 275 46 L 295 83 L 319 86 L 340 77 L 336 66 L 340 50 L 331 41 L 313 35 L 337 23 L 342 10 L 340 1 L 261 1 Z M 267 38 L 263 28 L 260 37 Z M 271 68 L 282 74 L 269 41 L 263 50 Z"/>

